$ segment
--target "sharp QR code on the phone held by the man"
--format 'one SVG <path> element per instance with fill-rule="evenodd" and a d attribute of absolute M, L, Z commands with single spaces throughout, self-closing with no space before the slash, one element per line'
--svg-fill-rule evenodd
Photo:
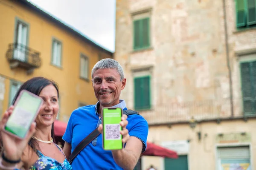
<path fill-rule="evenodd" d="M 105 125 L 105 139 L 121 139 L 120 125 L 119 124 L 109 124 Z"/>

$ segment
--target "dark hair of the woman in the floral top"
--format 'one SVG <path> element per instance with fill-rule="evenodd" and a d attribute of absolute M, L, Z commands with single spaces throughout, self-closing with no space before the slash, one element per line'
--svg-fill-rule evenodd
<path fill-rule="evenodd" d="M 47 78 L 44 78 L 44 77 L 34 77 L 32 79 L 27 80 L 26 82 L 23 83 L 23 85 L 20 86 L 19 90 L 15 94 L 15 97 L 12 101 L 12 105 L 15 103 L 15 101 L 17 99 L 17 96 L 19 96 L 19 94 L 20 94 L 20 91 L 27 90 L 27 91 L 39 96 L 39 94 L 41 93 L 43 88 L 45 88 L 47 85 L 53 85 L 56 88 L 58 98 L 59 98 L 58 85 L 57 85 L 56 82 L 54 82 L 53 80 L 49 80 Z M 52 123 L 51 132 L 52 132 L 51 137 L 53 139 L 53 142 L 55 143 L 54 123 Z M 36 147 L 38 147 L 38 143 L 36 142 L 35 139 L 32 139 L 32 138 L 29 140 L 29 145 L 32 147 L 33 150 L 36 150 Z"/>

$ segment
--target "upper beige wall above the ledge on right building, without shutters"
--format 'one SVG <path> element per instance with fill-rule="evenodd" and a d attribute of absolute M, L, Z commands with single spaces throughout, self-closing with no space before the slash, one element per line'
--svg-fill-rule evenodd
<path fill-rule="evenodd" d="M 235 1 L 227 0 L 230 65 L 236 115 L 241 114 L 239 51 L 256 48 L 256 29 L 236 31 Z M 222 1 L 117 0 L 116 51 L 125 69 L 127 86 L 122 92 L 134 107 L 133 77 L 136 68 L 152 66 L 152 107 L 170 103 L 217 100 L 230 115 L 229 77 L 225 53 Z M 150 12 L 151 48 L 133 51 L 134 12 Z M 256 58 L 256 55 L 253 56 Z"/>

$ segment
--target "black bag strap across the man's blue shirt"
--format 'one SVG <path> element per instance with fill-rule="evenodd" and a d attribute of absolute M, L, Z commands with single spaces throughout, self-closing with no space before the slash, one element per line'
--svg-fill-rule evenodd
<path fill-rule="evenodd" d="M 132 110 L 124 110 L 123 114 L 131 115 L 131 114 L 139 114 L 137 111 L 132 111 Z M 89 144 L 90 142 L 93 141 L 93 139 L 95 139 L 97 136 L 99 136 L 99 131 L 98 128 L 96 128 L 95 130 L 93 130 L 92 133 L 90 133 L 88 136 L 86 136 L 84 138 L 84 140 L 82 140 L 77 146 L 76 148 L 73 150 L 73 152 L 71 153 L 70 157 L 69 157 L 69 161 L 70 164 L 72 164 L 73 160 L 76 158 L 76 156 L 84 149 L 84 147 L 87 146 L 87 144 Z"/>

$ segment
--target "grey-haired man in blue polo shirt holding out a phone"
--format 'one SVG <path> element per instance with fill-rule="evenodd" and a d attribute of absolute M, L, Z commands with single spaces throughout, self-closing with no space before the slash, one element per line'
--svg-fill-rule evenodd
<path fill-rule="evenodd" d="M 104 107 L 119 107 L 126 110 L 124 100 L 120 100 L 126 79 L 121 65 L 114 59 L 102 59 L 92 69 L 96 105 L 76 109 L 70 116 L 63 136 L 64 153 L 67 158 L 75 147 L 96 127 L 102 133 L 101 113 Z M 86 96 L 84 96 L 86 97 Z M 72 162 L 74 170 L 133 170 L 140 154 L 145 151 L 148 123 L 137 114 L 122 116 L 123 142 L 121 150 L 107 151 L 102 148 L 102 134 L 88 144 Z"/>

